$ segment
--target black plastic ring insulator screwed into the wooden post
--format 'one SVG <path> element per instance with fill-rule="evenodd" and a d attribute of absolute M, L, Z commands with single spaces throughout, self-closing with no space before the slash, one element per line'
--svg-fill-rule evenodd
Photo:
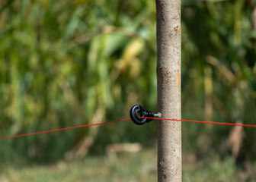
<path fill-rule="evenodd" d="M 146 117 L 146 118 L 139 118 L 139 117 Z M 133 105 L 130 109 L 130 118 L 132 119 L 133 123 L 142 125 L 149 123 L 154 118 L 154 112 L 146 110 L 141 105 Z"/>

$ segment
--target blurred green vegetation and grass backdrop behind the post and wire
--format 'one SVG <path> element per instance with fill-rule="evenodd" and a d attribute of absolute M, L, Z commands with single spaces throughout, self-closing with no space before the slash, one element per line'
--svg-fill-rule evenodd
<path fill-rule="evenodd" d="M 0 137 L 156 111 L 153 0 L 1 0 Z M 256 124 L 256 1 L 182 1 L 182 118 Z M 0 180 L 156 181 L 156 122 L 0 141 Z M 256 130 L 182 124 L 184 181 L 256 181 Z"/>

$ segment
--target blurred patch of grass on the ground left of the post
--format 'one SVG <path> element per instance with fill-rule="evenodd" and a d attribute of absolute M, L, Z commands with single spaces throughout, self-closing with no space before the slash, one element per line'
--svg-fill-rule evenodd
<path fill-rule="evenodd" d="M 152 150 L 93 156 L 82 161 L 57 162 L 48 166 L 6 168 L 0 175 L 0 181 L 155 181 L 155 162 L 156 157 Z"/>

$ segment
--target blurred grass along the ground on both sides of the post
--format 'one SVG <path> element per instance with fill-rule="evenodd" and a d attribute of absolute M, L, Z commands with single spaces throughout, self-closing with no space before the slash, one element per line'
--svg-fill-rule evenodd
<path fill-rule="evenodd" d="M 117 155 L 88 156 L 81 161 L 56 162 L 53 165 L 8 167 L 1 171 L 1 182 L 79 182 L 79 181 L 157 181 L 156 149 L 122 152 Z M 251 166 L 253 166 L 251 164 Z M 256 165 L 251 167 L 256 171 Z M 256 181 L 248 172 L 238 169 L 231 158 L 221 160 L 209 154 L 198 160 L 183 155 L 183 181 Z"/>

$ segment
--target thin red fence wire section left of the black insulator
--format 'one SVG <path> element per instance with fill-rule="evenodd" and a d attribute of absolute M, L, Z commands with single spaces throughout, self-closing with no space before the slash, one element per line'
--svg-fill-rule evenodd
<path fill-rule="evenodd" d="M 81 125 L 81 126 L 77 126 L 77 127 L 65 127 L 65 128 L 55 129 L 55 130 L 45 130 L 45 131 L 39 131 L 39 132 L 35 132 L 35 133 L 26 133 L 26 134 L 14 135 L 14 136 L 9 136 L 9 137 L 1 137 L 0 140 L 6 140 L 6 139 L 11 139 L 11 138 L 19 138 L 19 137 L 27 137 L 27 136 L 30 136 L 30 135 L 50 133 L 50 132 L 55 132 L 55 131 L 60 131 L 60 130 L 71 130 L 71 129 L 75 129 L 75 128 L 79 128 L 79 127 L 91 127 L 91 126 L 100 125 L 100 124 L 110 124 L 110 123 L 115 123 L 115 122 L 120 122 L 120 121 L 127 121 L 127 120 L 130 120 L 130 118 L 121 119 L 121 120 L 117 120 L 117 121 L 107 121 L 107 122 L 97 123 L 97 124 L 85 124 L 85 125 Z"/>

